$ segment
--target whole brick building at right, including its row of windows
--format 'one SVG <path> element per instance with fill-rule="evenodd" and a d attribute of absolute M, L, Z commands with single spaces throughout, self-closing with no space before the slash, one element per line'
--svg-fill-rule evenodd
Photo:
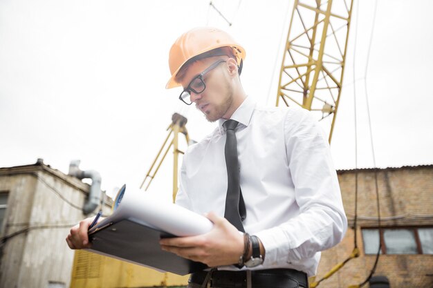
<path fill-rule="evenodd" d="M 322 253 L 316 280 L 353 251 L 356 173 L 354 170 L 338 171 L 349 229 L 342 243 Z M 360 284 L 374 266 L 379 239 L 382 247 L 374 275 L 387 276 L 392 288 L 433 287 L 433 165 L 359 170 L 357 214 L 356 238 L 360 256 L 349 260 L 319 287 Z"/>

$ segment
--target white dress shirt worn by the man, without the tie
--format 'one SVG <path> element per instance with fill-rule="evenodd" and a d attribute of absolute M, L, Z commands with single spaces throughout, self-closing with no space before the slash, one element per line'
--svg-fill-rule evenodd
<path fill-rule="evenodd" d="M 347 229 L 322 128 L 309 111 L 259 108 L 249 97 L 231 119 L 239 122 L 235 133 L 247 211 L 243 227 L 266 250 L 264 263 L 253 269 L 292 268 L 315 275 L 320 251 L 338 244 Z M 196 213 L 224 215 L 224 121 L 183 156 L 176 204 Z"/>

